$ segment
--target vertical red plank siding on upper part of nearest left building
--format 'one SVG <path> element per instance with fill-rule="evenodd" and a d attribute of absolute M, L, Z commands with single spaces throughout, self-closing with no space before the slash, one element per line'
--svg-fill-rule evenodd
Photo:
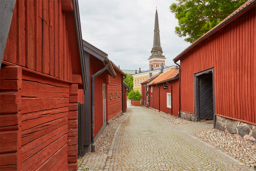
<path fill-rule="evenodd" d="M 4 61 L 72 81 L 71 60 L 73 74 L 81 73 L 75 30 L 73 11 L 62 11 L 61 1 L 16 1 Z"/>

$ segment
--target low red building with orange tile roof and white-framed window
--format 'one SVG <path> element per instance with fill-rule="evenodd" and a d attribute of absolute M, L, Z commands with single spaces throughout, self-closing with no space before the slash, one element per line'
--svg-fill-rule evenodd
<path fill-rule="evenodd" d="M 150 92 L 150 107 L 174 116 L 178 115 L 178 77 L 178 69 L 172 68 L 161 73 L 147 85 Z"/>

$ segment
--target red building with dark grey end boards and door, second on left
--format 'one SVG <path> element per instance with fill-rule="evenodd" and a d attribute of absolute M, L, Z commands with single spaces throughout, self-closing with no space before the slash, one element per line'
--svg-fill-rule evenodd
<path fill-rule="evenodd" d="M 116 77 L 108 54 L 83 40 L 88 87 L 84 96 L 84 149 L 94 151 L 99 135 L 105 129 L 108 114 L 108 78 Z M 121 106 L 122 104 L 120 104 Z M 122 108 L 121 108 L 122 109 Z"/>

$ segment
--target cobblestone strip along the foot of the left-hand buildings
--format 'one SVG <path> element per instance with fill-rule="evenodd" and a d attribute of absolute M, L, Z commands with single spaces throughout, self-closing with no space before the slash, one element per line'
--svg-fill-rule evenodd
<path fill-rule="evenodd" d="M 95 143 L 95 153 L 108 154 L 109 147 L 111 146 L 112 139 L 119 124 L 127 117 L 129 110 L 125 113 L 116 115 L 107 124 L 105 130 L 101 133 Z"/>

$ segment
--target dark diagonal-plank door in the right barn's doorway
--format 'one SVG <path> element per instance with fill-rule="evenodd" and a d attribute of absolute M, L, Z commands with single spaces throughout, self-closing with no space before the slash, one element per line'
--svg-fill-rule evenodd
<path fill-rule="evenodd" d="M 199 77 L 199 117 L 213 119 L 213 77 L 203 74 Z"/>

